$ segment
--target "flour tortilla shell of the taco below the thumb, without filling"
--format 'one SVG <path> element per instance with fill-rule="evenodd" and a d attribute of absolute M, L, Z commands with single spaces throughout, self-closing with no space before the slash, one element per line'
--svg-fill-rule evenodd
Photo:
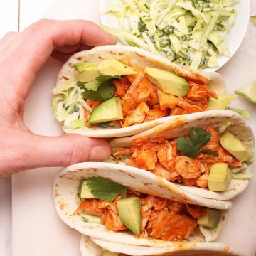
<path fill-rule="evenodd" d="M 121 242 L 129 245 L 144 245 L 151 247 L 163 247 L 173 245 L 172 242 L 147 238 L 135 238 L 129 231 L 114 232 L 107 230 L 105 225 L 98 223 L 86 223 L 79 215 L 73 215 L 78 208 L 77 188 L 81 178 L 101 176 L 120 183 L 134 191 L 139 191 L 162 198 L 191 203 L 209 208 L 228 210 L 232 203 L 228 201 L 216 201 L 193 195 L 173 183 L 159 178 L 149 171 L 139 171 L 123 164 L 87 162 L 74 164 L 60 171 L 55 177 L 54 199 L 56 211 L 63 222 L 78 232 L 100 240 Z M 189 238 L 191 242 L 204 242 L 201 235 Z"/>

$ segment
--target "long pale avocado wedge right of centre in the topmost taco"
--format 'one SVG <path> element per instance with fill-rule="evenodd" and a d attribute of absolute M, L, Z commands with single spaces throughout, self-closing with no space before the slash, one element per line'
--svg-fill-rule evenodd
<path fill-rule="evenodd" d="M 188 82 L 174 72 L 150 67 L 146 67 L 144 72 L 147 73 L 149 80 L 159 87 L 162 92 L 181 97 L 188 93 Z"/>

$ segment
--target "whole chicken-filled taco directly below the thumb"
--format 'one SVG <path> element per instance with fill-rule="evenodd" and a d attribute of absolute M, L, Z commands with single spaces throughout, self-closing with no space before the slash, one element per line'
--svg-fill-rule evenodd
<path fill-rule="evenodd" d="M 87 162 L 60 171 L 55 208 L 83 235 L 127 245 L 172 246 L 218 237 L 232 203 L 193 195 L 149 171 Z"/>

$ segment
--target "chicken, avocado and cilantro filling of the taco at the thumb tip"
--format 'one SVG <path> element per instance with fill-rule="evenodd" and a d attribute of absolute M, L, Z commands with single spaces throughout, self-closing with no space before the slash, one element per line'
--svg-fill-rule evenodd
<path fill-rule="evenodd" d="M 121 159 L 129 166 L 185 186 L 226 191 L 232 178 L 252 177 L 243 171 L 253 158 L 249 146 L 225 131 L 228 125 L 233 124 L 225 124 L 219 131 L 210 126 L 191 129 L 176 139 L 134 139 L 132 147 L 113 154 L 113 161 Z"/>

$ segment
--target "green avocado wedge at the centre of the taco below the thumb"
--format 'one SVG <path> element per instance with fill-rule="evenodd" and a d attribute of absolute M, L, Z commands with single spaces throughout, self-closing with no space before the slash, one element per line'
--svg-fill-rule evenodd
<path fill-rule="evenodd" d="M 117 209 L 121 222 L 136 235 L 141 234 L 141 208 L 141 201 L 137 197 L 122 198 L 117 201 Z"/>

